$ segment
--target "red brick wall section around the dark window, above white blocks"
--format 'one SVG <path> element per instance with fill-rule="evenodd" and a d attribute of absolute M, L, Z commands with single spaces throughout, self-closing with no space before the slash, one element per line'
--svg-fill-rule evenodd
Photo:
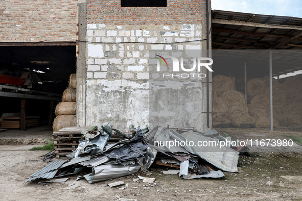
<path fill-rule="evenodd" d="M 167 0 L 167 7 L 121 7 L 121 0 L 87 0 L 87 23 L 196 24 L 201 22 L 203 1 Z"/>

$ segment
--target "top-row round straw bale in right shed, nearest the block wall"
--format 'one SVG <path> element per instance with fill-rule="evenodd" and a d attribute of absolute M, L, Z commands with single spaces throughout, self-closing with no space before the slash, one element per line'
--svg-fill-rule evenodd
<path fill-rule="evenodd" d="M 227 90 L 234 90 L 234 80 L 232 80 L 230 77 L 226 76 L 215 76 L 212 79 L 212 86 L 214 91 L 214 96 L 220 96 L 223 92 Z"/>

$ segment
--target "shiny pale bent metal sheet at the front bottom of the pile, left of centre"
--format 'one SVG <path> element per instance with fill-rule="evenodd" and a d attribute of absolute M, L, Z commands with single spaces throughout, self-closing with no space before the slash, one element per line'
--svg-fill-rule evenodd
<path fill-rule="evenodd" d="M 140 170 L 141 165 L 100 165 L 92 168 L 92 173 L 84 175 L 89 184 L 123 177 Z"/>

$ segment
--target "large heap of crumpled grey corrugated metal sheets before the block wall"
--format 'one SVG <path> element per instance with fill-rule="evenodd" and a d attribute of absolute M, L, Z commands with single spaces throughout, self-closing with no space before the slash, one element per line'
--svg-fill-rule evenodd
<path fill-rule="evenodd" d="M 106 145 L 113 131 L 123 139 Z M 150 131 L 148 128 L 138 127 L 132 135 L 129 135 L 112 129 L 112 125 L 105 122 L 97 131 L 83 133 L 77 149 L 68 155 L 70 159 L 51 162 L 32 174 L 25 183 L 39 178 L 52 179 L 85 172 L 83 177 L 91 184 L 133 174 L 140 170 L 146 172 L 155 161 L 158 165 L 175 167 L 176 171 L 163 173 L 179 172 L 179 177 L 183 179 L 221 178 L 224 176 L 221 170 L 238 171 L 239 152 L 236 150 L 238 147 L 197 146 L 188 144 L 188 141 L 226 142 L 228 140 L 230 137 L 224 138 L 215 130 L 205 134 L 198 131 L 176 132 L 170 131 L 169 127 L 161 128 L 158 125 Z M 247 147 L 245 151 L 246 149 Z M 214 171 L 213 168 L 221 170 Z"/>

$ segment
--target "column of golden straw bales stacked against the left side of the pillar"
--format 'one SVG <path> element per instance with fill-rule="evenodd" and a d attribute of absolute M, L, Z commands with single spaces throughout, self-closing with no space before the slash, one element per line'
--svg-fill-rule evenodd
<path fill-rule="evenodd" d="M 76 74 L 71 74 L 69 78 L 69 86 L 62 95 L 62 102 L 56 107 L 56 118 L 53 124 L 54 131 L 59 131 L 65 127 L 76 127 L 77 125 L 76 81 Z"/>

